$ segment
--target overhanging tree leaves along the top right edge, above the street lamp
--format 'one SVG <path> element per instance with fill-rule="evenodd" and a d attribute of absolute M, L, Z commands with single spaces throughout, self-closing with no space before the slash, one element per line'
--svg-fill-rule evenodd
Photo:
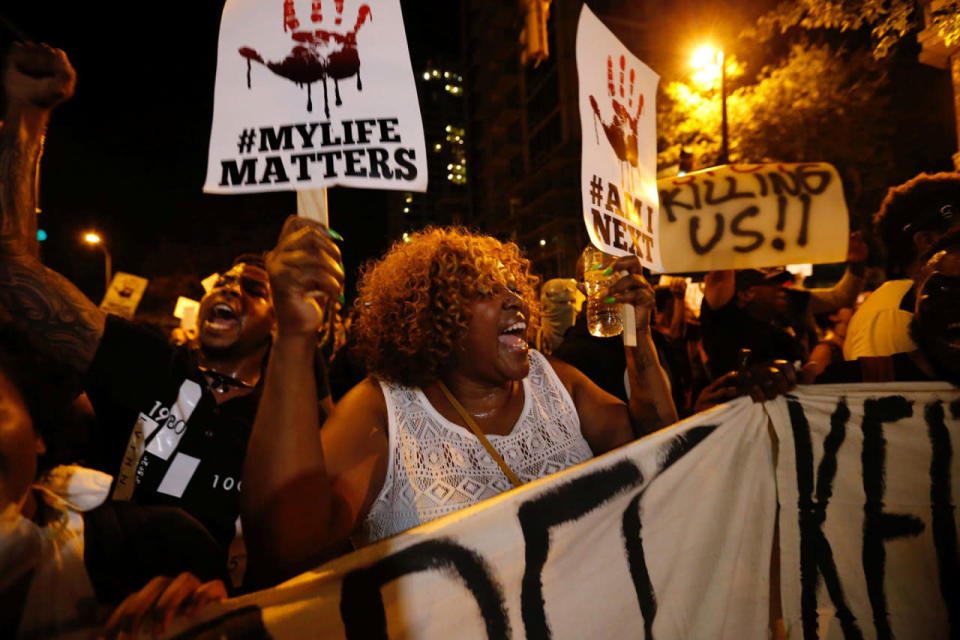
<path fill-rule="evenodd" d="M 761 16 L 754 33 L 765 40 L 792 27 L 869 29 L 873 55 L 880 59 L 904 36 L 925 27 L 936 30 L 947 46 L 960 42 L 960 0 L 787 0 Z"/>

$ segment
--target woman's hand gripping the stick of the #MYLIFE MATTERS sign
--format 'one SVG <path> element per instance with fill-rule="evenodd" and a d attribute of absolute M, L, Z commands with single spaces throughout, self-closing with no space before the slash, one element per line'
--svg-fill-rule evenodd
<path fill-rule="evenodd" d="M 280 335 L 315 334 L 328 303 L 343 294 L 340 249 L 319 223 L 290 216 L 277 246 L 267 254 L 267 273 Z"/>

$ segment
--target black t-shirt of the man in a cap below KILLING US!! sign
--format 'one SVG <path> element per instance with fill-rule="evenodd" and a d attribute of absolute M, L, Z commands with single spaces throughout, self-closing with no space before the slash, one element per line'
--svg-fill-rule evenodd
<path fill-rule="evenodd" d="M 793 321 L 778 326 L 748 314 L 737 306 L 735 297 L 719 309 L 711 307 L 704 298 L 700 326 L 711 375 L 716 378 L 736 370 L 740 349 L 750 349 L 749 364 L 766 360 L 806 361 L 803 317 L 809 301 L 809 292 L 787 289 L 787 317 Z"/>

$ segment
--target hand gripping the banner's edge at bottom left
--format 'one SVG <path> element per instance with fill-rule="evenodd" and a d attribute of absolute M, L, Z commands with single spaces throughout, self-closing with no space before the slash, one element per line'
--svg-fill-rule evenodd
<path fill-rule="evenodd" d="M 190 617 L 200 608 L 227 597 L 222 580 L 201 583 L 192 573 L 176 578 L 157 576 L 131 594 L 113 612 L 103 628 L 103 638 L 137 637 L 139 633 L 164 633 L 174 616 Z"/>

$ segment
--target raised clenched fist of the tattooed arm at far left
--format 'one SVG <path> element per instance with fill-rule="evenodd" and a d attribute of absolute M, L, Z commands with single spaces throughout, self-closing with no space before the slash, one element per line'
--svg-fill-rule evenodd
<path fill-rule="evenodd" d="M 73 95 L 77 74 L 61 49 L 13 43 L 3 71 L 8 109 L 52 109 Z"/>

